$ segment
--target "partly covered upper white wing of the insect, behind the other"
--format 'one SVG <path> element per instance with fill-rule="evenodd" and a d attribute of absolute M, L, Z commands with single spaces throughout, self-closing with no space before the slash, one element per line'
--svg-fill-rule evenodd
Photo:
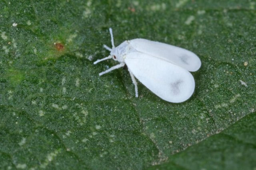
<path fill-rule="evenodd" d="M 147 39 L 132 39 L 130 45 L 138 52 L 164 59 L 188 71 L 196 71 L 201 66 L 197 55 L 180 47 Z"/>

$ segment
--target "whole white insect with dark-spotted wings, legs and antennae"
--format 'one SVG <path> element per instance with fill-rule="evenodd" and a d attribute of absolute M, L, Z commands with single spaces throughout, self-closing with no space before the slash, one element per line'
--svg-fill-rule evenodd
<path fill-rule="evenodd" d="M 106 45 L 103 47 L 110 51 L 110 55 L 94 64 L 111 58 L 120 64 L 101 72 L 100 76 L 126 64 L 135 86 L 136 97 L 138 87 L 134 76 L 168 102 L 180 103 L 190 98 L 195 81 L 189 71 L 196 71 L 201 66 L 197 55 L 180 47 L 147 39 L 132 39 L 115 47 L 112 29 L 109 31 L 112 49 Z"/>

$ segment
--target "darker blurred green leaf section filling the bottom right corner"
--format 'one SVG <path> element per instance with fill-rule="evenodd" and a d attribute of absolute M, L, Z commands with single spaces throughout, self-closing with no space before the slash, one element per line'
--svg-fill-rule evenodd
<path fill-rule="evenodd" d="M 255 169 L 255 120 L 254 112 L 221 133 L 170 156 L 167 163 L 151 169 Z"/>

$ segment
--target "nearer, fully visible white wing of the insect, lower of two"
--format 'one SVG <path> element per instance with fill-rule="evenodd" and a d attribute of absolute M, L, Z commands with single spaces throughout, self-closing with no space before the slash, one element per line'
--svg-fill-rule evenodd
<path fill-rule="evenodd" d="M 192 74 L 184 68 L 148 54 L 129 53 L 124 62 L 134 76 L 168 102 L 184 102 L 194 92 Z"/>

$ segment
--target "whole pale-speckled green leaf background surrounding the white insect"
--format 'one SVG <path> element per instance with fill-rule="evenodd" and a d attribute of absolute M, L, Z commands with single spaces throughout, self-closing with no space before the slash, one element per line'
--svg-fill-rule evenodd
<path fill-rule="evenodd" d="M 256 3 L 0 2 L 1 169 L 253 169 Z M 117 63 L 145 38 L 193 51 L 196 89 L 172 104 Z M 241 119 L 241 120 L 240 120 Z M 240 121 L 238 121 L 240 120 Z M 216 135 L 216 133 L 219 133 Z"/>

